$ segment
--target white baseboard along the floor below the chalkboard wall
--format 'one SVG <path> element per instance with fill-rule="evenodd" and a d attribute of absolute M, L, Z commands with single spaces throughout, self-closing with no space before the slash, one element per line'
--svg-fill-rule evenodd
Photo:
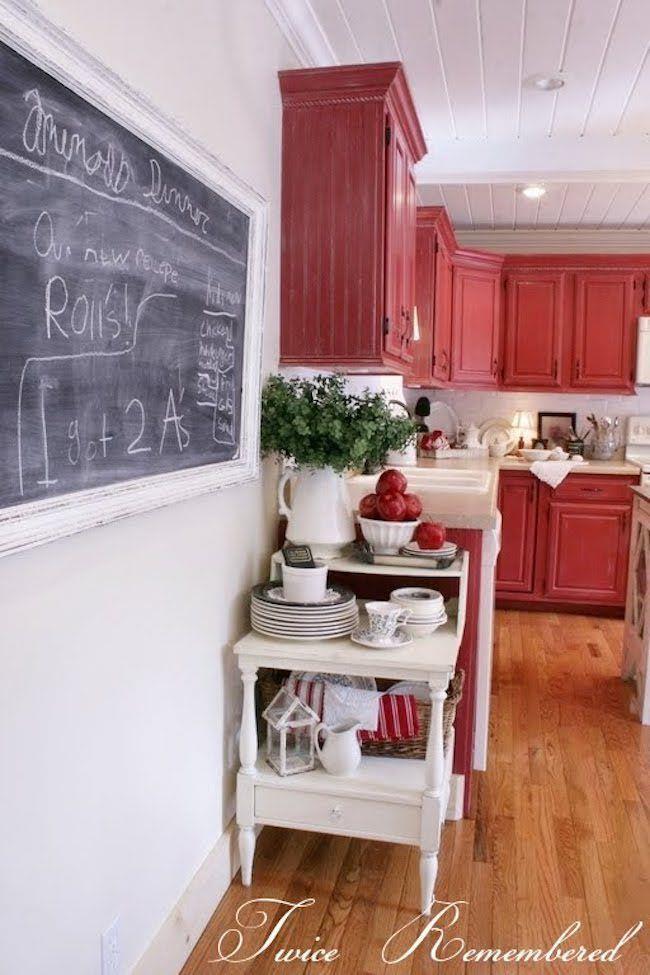
<path fill-rule="evenodd" d="M 232 820 L 131 975 L 178 975 L 238 870 L 237 827 Z"/>

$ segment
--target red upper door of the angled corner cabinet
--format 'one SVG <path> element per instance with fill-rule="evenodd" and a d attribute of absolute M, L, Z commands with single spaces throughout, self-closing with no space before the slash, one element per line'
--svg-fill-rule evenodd
<path fill-rule="evenodd" d="M 499 280 L 499 272 L 454 267 L 451 380 L 456 385 L 497 385 Z"/>

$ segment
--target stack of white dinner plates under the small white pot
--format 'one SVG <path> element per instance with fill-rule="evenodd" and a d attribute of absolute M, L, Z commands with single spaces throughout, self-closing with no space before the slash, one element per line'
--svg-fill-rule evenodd
<path fill-rule="evenodd" d="M 354 593 L 330 586 L 320 603 L 290 603 L 277 582 L 255 586 L 251 624 L 258 633 L 281 640 L 332 640 L 348 636 L 359 622 Z"/>

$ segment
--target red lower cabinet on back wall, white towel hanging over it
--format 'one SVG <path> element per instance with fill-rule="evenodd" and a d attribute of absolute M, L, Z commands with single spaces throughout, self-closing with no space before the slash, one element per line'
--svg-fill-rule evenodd
<path fill-rule="evenodd" d="M 553 490 L 527 472 L 502 471 L 498 604 L 622 610 L 636 483 L 570 474 Z"/>

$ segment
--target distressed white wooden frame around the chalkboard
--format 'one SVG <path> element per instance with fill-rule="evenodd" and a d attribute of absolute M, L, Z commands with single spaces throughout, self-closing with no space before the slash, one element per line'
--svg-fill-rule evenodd
<path fill-rule="evenodd" d="M 203 181 L 250 218 L 239 456 L 232 461 L 15 505 L 0 511 L 0 556 L 259 477 L 267 203 L 29 2 L 0 0 L 0 40 Z"/>

